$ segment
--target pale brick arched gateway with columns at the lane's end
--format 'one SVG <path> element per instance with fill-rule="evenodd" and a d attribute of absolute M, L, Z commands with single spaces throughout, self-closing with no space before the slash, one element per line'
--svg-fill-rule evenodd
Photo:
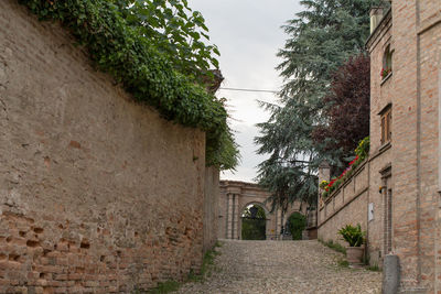
<path fill-rule="evenodd" d="M 271 207 L 266 204 L 266 199 L 270 194 L 256 184 L 220 181 L 219 186 L 219 239 L 243 239 L 241 231 L 245 220 L 246 226 L 249 222 L 262 222 L 260 227 L 257 226 L 265 228 L 265 238 L 261 239 L 281 240 L 288 217 L 295 211 L 304 216 L 306 215 L 306 207 L 304 205 L 302 211 L 300 211 L 300 203 L 291 205 L 284 214 L 280 209 L 270 213 Z M 252 207 L 261 207 L 261 214 L 265 215 L 265 219 L 262 219 L 262 216 L 251 216 L 249 209 L 252 210 Z"/>

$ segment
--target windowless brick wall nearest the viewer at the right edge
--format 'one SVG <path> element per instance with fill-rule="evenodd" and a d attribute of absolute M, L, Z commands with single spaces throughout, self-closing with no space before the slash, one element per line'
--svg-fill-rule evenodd
<path fill-rule="evenodd" d="M 440 1 L 394 1 L 394 249 L 401 288 L 439 292 L 435 253 Z M 438 277 L 439 279 L 439 277 Z"/>

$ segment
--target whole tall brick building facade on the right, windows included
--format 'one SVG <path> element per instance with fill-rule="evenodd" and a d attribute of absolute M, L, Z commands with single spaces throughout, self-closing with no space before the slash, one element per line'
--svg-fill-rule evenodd
<path fill-rule="evenodd" d="M 391 1 L 373 29 L 369 250 L 398 255 L 401 292 L 440 293 L 441 1 Z"/>

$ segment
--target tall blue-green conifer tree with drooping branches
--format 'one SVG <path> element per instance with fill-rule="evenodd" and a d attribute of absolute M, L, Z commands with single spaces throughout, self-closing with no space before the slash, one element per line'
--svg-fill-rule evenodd
<path fill-rule="evenodd" d="M 289 39 L 278 56 L 277 67 L 284 78 L 280 101 L 262 104 L 271 112 L 259 123 L 259 154 L 269 154 L 260 163 L 259 184 L 272 193 L 272 208 L 286 209 L 300 200 L 314 205 L 316 170 L 326 160 L 343 166 L 342 150 L 325 150 L 329 141 L 316 143 L 311 134 L 316 126 L 326 124 L 324 97 L 329 94 L 333 73 L 349 56 L 364 51 L 369 35 L 369 9 L 379 1 L 303 0 L 305 8 L 283 26 Z"/>

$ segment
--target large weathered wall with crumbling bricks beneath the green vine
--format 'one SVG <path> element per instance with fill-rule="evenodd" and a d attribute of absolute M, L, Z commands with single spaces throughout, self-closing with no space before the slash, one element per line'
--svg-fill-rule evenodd
<path fill-rule="evenodd" d="M 129 293 L 197 271 L 204 141 L 0 1 L 0 293 Z"/>

